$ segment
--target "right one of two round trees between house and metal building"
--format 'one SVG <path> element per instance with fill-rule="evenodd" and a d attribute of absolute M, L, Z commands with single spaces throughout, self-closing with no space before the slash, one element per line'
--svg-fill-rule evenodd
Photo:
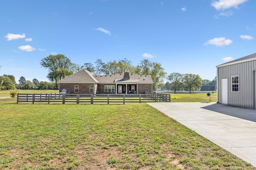
<path fill-rule="evenodd" d="M 189 94 L 191 94 L 191 89 L 197 89 L 202 86 L 202 79 L 197 74 L 185 74 L 183 76 L 183 84 L 184 87 L 189 90 Z"/>

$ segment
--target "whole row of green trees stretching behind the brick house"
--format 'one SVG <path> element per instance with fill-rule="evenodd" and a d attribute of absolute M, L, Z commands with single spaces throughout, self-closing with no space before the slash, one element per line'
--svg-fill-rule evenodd
<path fill-rule="evenodd" d="M 49 55 L 41 60 L 40 65 L 48 68 L 46 77 L 50 82 L 39 82 L 36 78 L 30 82 L 23 76 L 20 77 L 19 84 L 16 84 L 12 75 L 0 76 L 0 90 L 18 89 L 58 89 L 58 81 L 79 70 L 86 69 L 94 75 L 111 75 L 117 73 L 130 72 L 134 74 L 151 75 L 153 80 L 153 91 L 156 89 L 170 90 L 198 90 L 204 89 L 204 85 L 211 84 L 210 80 L 202 80 L 199 75 L 171 73 L 167 75 L 160 63 L 151 62 L 143 59 L 137 66 L 133 66 L 128 59 L 120 59 L 118 61 L 109 61 L 104 63 L 101 59 L 97 59 L 95 63 L 84 63 L 82 65 L 75 64 L 65 55 Z M 167 75 L 167 76 L 166 76 Z M 164 79 L 169 82 L 164 84 Z M 209 90 L 209 89 L 208 89 Z"/>

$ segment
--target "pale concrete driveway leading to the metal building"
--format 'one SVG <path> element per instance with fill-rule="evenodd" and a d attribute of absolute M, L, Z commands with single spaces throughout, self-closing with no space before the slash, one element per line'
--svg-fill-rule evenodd
<path fill-rule="evenodd" d="M 256 167 L 256 110 L 217 103 L 148 103 Z"/>

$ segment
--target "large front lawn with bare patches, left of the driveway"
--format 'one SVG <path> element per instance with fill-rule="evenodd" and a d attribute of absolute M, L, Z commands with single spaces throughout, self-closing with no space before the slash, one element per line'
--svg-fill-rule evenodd
<path fill-rule="evenodd" d="M 147 104 L 0 104 L 0 169 L 255 170 Z"/>

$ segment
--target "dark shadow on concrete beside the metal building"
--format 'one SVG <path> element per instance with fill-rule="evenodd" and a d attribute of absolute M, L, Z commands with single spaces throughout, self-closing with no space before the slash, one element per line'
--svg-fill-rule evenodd
<path fill-rule="evenodd" d="M 209 106 L 204 106 L 201 108 L 222 113 L 225 115 L 233 116 L 233 117 L 238 117 L 240 119 L 256 122 L 255 109 L 246 109 L 246 108 L 228 106 L 228 105 L 218 104 L 218 103 L 212 104 Z"/>

